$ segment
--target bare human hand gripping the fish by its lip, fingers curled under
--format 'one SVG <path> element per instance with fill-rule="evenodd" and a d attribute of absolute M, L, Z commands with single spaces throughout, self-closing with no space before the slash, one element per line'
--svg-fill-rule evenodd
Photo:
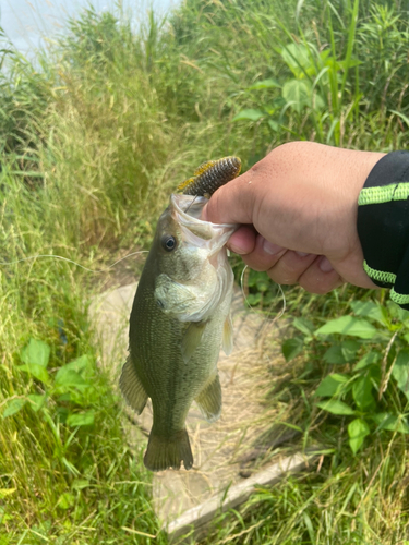
<path fill-rule="evenodd" d="M 312 142 L 275 148 L 214 193 L 204 218 L 242 223 L 228 246 L 281 284 L 327 293 L 344 282 L 376 288 L 362 268 L 358 196 L 385 154 Z"/>

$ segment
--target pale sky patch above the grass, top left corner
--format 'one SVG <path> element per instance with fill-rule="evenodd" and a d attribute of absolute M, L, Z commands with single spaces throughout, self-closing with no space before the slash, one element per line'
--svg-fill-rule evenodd
<path fill-rule="evenodd" d="M 15 47 L 29 57 L 33 49 L 52 39 L 61 32 L 64 19 L 74 16 L 91 3 L 96 11 L 115 9 L 121 0 L 0 0 L 0 26 Z M 149 5 L 158 13 L 175 7 L 178 0 L 122 0 L 123 10 L 132 13 L 135 22 Z"/>

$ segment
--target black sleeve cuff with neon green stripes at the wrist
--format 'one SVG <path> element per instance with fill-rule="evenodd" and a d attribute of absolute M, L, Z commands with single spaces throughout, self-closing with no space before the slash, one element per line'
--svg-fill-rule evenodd
<path fill-rule="evenodd" d="M 363 268 L 390 299 L 409 310 L 409 152 L 385 155 L 358 199 Z"/>

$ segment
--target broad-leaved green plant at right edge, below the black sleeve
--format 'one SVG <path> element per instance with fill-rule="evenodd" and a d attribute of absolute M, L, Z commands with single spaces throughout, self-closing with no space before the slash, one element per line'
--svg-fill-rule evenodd
<path fill-rule="evenodd" d="M 328 320 L 317 329 L 298 318 L 302 336 L 282 343 L 287 360 L 311 343 L 334 370 L 318 385 L 317 408 L 348 424 L 349 445 L 356 453 L 366 436 L 382 429 L 409 433 L 409 314 L 394 303 L 352 301 L 351 315 Z M 339 370 L 339 371 L 338 371 Z"/>

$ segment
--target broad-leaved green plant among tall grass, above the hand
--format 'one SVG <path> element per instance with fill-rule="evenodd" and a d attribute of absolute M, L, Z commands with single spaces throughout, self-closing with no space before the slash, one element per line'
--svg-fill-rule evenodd
<path fill-rule="evenodd" d="M 348 25 L 342 28 L 347 39 L 345 52 L 335 45 L 329 4 L 326 4 L 325 13 L 330 43 L 325 48 L 309 41 L 301 28 L 298 38 L 284 27 L 286 37 L 291 38 L 291 41 L 277 50 L 292 77 L 282 83 L 268 78 L 248 87 L 249 93 L 278 88 L 280 96 L 273 97 L 273 100 L 262 108 L 240 111 L 233 121 L 265 120 L 272 132 L 282 129 L 292 133 L 291 126 L 294 122 L 304 124 L 310 120 L 321 142 L 334 142 L 339 145 L 344 130 L 341 118 L 345 118 L 342 122 L 346 121 L 360 99 L 360 94 L 356 94 L 351 106 L 346 108 L 348 101 L 351 101 L 347 85 L 348 72 L 360 63 L 352 57 L 358 7 L 359 0 L 356 0 L 348 11 Z"/>

